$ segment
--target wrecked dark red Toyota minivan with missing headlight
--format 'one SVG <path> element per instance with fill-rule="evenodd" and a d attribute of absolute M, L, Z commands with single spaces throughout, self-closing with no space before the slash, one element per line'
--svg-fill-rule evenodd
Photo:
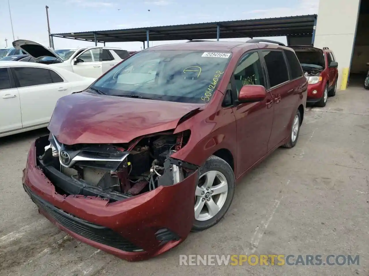
<path fill-rule="evenodd" d="M 216 224 L 245 173 L 296 145 L 304 117 L 295 53 L 260 42 L 151 47 L 59 99 L 23 171 L 39 212 L 128 260 Z"/>

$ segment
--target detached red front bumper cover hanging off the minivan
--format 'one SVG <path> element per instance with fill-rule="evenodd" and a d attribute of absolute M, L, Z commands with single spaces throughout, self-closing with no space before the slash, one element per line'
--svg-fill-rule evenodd
<path fill-rule="evenodd" d="M 76 239 L 128 261 L 175 247 L 194 221 L 198 171 L 180 183 L 109 203 L 98 197 L 62 195 L 37 166 L 35 143 L 23 170 L 23 185 L 42 213 Z"/>

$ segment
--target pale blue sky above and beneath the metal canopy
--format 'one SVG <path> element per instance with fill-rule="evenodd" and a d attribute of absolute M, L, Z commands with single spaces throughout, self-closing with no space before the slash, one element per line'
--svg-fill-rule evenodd
<path fill-rule="evenodd" d="M 319 0 L 10 0 L 15 39 L 28 39 L 48 46 L 45 5 L 49 6 L 51 33 L 97 31 L 244 20 L 314 14 Z M 128 1 L 127 1 L 128 2 Z M 7 0 L 0 0 L 0 47 L 13 41 Z M 150 11 L 148 11 L 150 10 Z M 228 39 L 230 40 L 230 39 Z M 235 39 L 244 41 L 247 39 Z M 276 38 L 286 42 L 286 38 Z M 180 42 L 177 40 L 176 42 Z M 150 42 L 159 45 L 169 42 Z M 92 42 L 54 38 L 56 49 L 94 46 Z M 98 45 L 102 45 L 99 44 Z M 142 42 L 107 43 L 127 50 L 140 50 Z"/>

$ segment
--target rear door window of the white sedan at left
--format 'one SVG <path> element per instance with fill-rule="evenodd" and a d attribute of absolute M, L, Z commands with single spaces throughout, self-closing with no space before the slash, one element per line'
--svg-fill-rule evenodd
<path fill-rule="evenodd" d="M 14 67 L 15 76 L 20 87 L 51 84 L 50 70 L 35 67 Z"/>

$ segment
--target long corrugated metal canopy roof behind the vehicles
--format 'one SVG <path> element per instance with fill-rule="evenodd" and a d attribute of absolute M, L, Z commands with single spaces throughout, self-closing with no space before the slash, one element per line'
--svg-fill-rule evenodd
<path fill-rule="evenodd" d="M 106 31 L 54 33 L 52 35 L 95 41 L 96 34 L 98 42 L 144 42 L 146 41 L 146 31 L 149 30 L 150 41 L 216 39 L 218 25 L 220 26 L 220 38 L 311 35 L 316 18 L 317 15 L 312 14 Z"/>

